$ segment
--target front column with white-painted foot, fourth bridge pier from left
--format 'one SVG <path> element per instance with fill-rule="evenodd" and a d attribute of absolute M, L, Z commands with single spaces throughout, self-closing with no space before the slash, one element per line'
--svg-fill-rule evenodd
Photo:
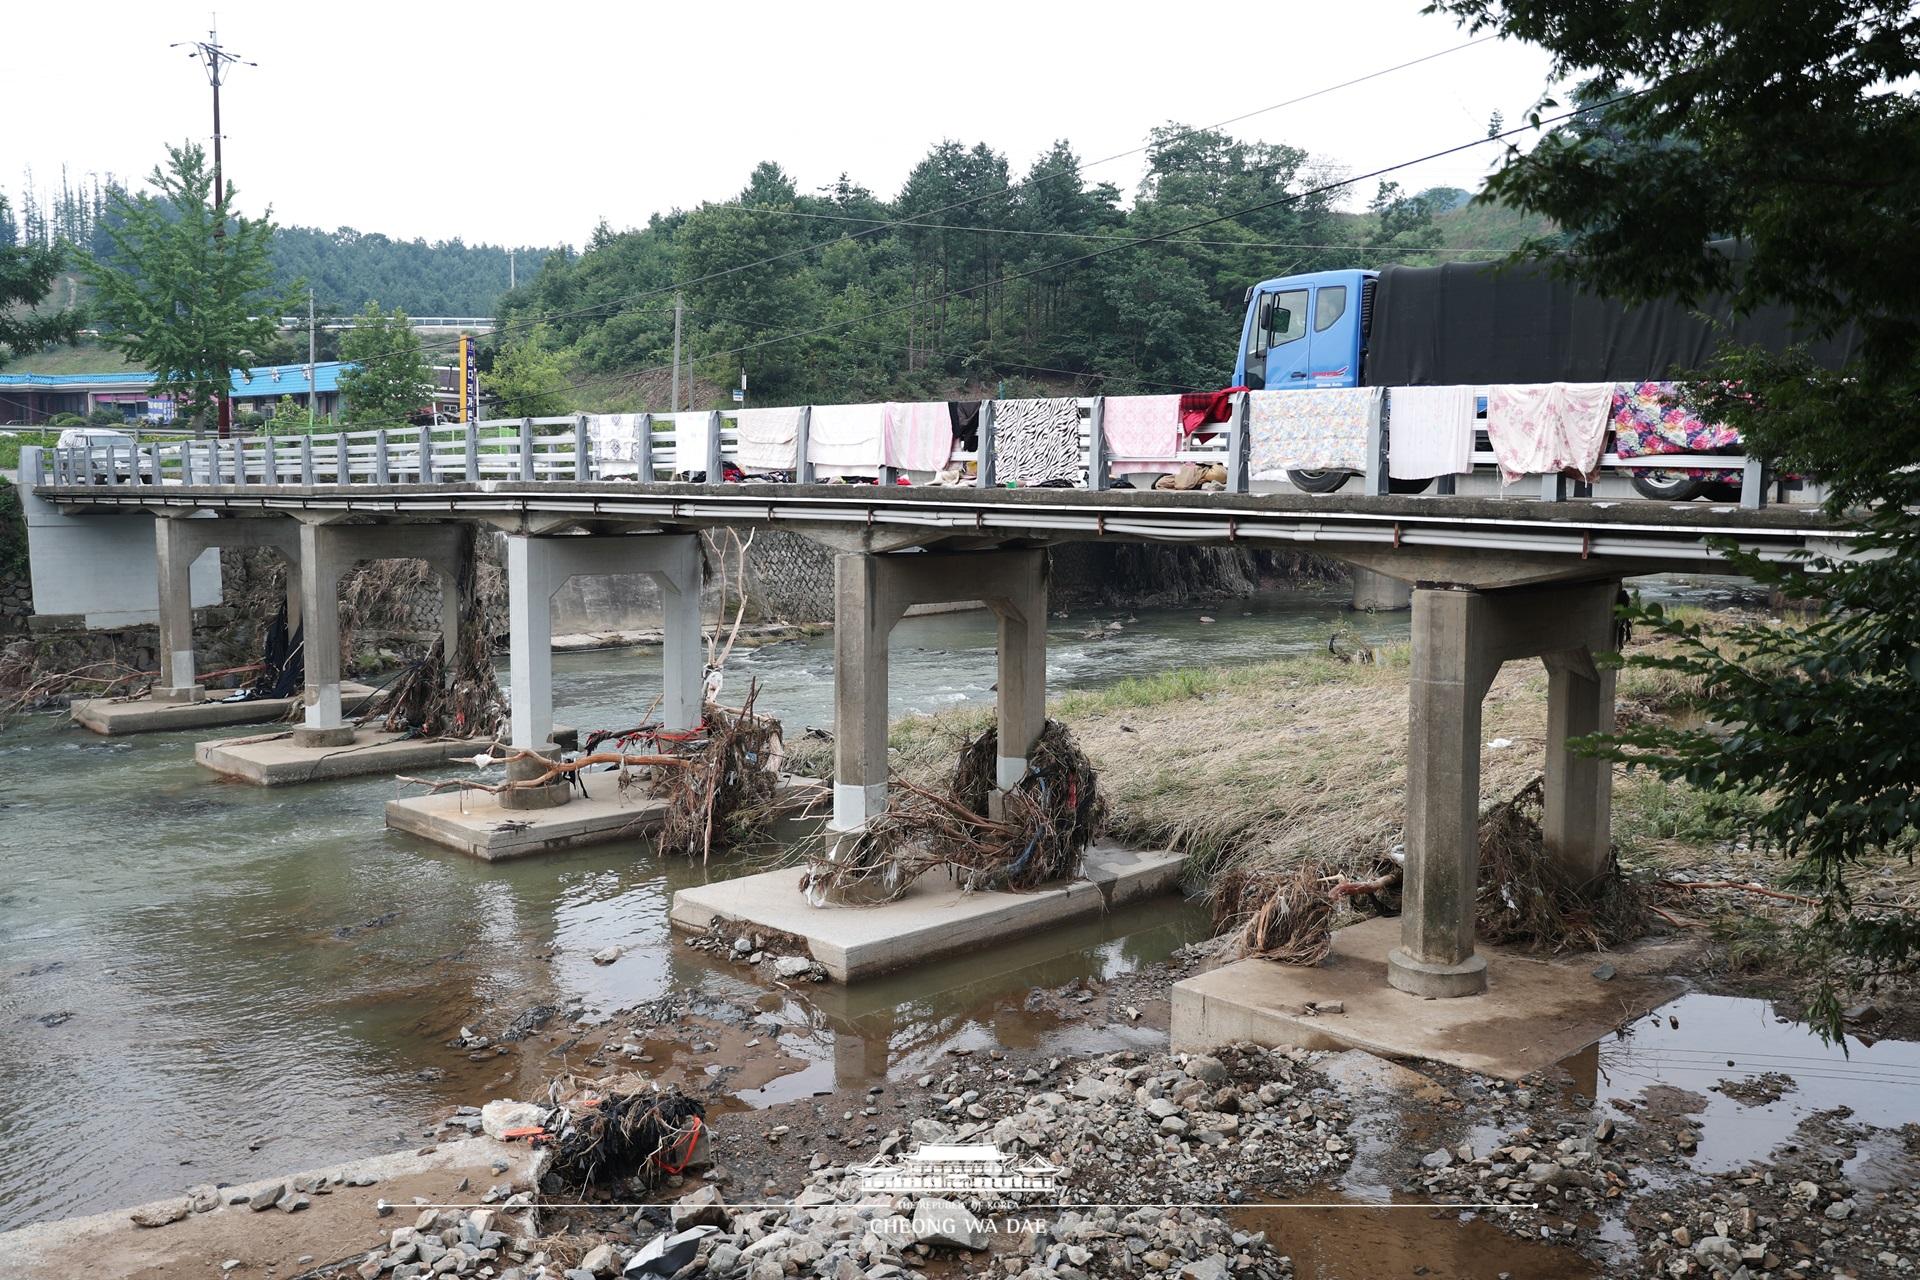
<path fill-rule="evenodd" d="M 887 635 L 900 612 L 881 576 L 879 557 L 833 557 L 835 831 L 887 812 Z"/>

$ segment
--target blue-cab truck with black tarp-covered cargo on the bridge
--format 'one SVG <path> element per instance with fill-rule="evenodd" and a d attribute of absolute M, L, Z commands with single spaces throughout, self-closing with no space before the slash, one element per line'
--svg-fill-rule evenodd
<path fill-rule="evenodd" d="M 1711 251 L 1740 255 L 1724 244 Z M 1720 297 L 1628 305 L 1532 263 L 1315 271 L 1246 290 L 1229 386 L 1647 382 L 1703 368 L 1722 342 L 1774 351 L 1803 345 L 1818 365 L 1837 368 L 1857 334 L 1803 334 L 1784 307 L 1734 313 Z M 1332 493 L 1350 474 L 1296 470 L 1286 478 L 1309 493 Z M 1738 472 L 1732 478 L 1738 484 Z M 1394 491 L 1417 493 L 1427 484 L 1394 482 Z M 1642 495 L 1668 501 L 1718 495 L 1720 484 L 1634 472 Z"/>

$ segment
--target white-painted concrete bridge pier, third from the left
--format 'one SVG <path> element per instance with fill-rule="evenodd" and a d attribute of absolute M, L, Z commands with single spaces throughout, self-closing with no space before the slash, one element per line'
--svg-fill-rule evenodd
<path fill-rule="evenodd" d="M 553 747 L 553 593 L 568 578 L 647 574 L 660 587 L 660 725 L 701 722 L 701 545 L 695 533 L 530 535 L 507 533 L 509 662 L 513 670 L 513 747 L 549 754 Z M 509 766 L 509 777 L 516 768 Z M 549 789 L 563 804 L 566 787 Z M 507 793 L 507 800 L 518 800 Z M 511 808 L 511 804 L 507 804 Z"/>

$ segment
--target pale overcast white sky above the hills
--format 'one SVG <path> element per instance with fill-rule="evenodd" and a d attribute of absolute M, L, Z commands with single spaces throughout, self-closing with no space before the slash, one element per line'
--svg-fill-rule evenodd
<path fill-rule="evenodd" d="M 175 40 L 209 12 L 169 0 L 10 6 L 0 190 L 111 171 L 205 140 L 209 90 Z M 1054 138 L 1083 159 L 1154 125 L 1212 125 L 1469 36 L 1421 0 L 1298 4 L 227 4 L 259 63 L 221 96 L 240 205 L 288 225 L 470 244 L 580 244 L 599 219 L 728 200 L 774 159 L 801 190 L 841 171 L 893 196 L 941 138 L 1016 175 Z M 1365 173 L 1517 123 L 1548 59 L 1492 40 L 1231 127 Z M 31 106 L 29 106 L 31 104 Z M 1411 169 L 1473 188 L 1498 148 Z M 1137 155 L 1091 165 L 1131 190 Z M 1365 186 L 1371 194 L 1371 182 Z"/>

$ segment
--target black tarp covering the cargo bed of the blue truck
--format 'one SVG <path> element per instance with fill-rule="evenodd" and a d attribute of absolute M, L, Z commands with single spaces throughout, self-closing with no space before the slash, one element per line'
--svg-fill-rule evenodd
<path fill-rule="evenodd" d="M 1713 328 L 1701 313 L 1726 324 Z M 1488 382 L 1640 382 L 1701 368 L 1716 345 L 1780 351 L 1805 336 L 1786 307 L 1738 320 L 1722 299 L 1622 305 L 1555 278 L 1544 265 L 1386 267 L 1375 296 L 1365 378 L 1373 386 Z M 1837 368 L 1857 336 L 1843 330 L 1809 353 Z"/>

